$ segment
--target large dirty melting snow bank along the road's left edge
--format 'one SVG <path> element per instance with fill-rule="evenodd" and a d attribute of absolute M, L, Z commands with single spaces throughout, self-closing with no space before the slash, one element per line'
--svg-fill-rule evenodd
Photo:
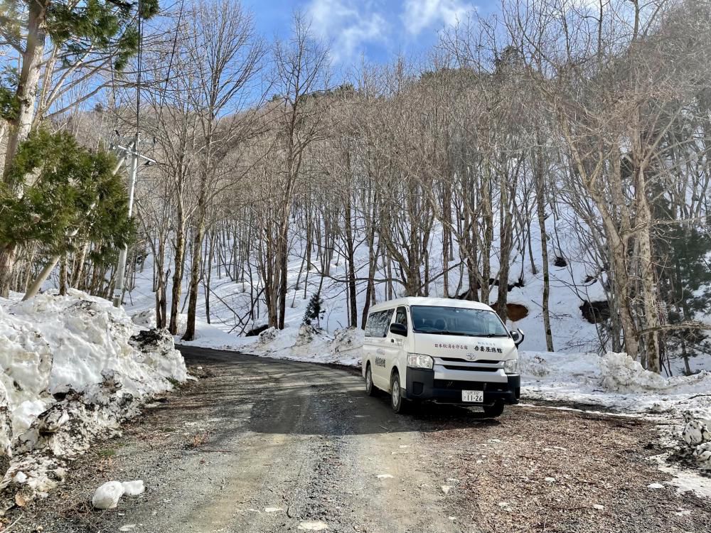
<path fill-rule="evenodd" d="M 66 459 L 186 379 L 170 335 L 139 332 L 101 298 L 0 300 L 0 489 L 17 505 L 43 495 Z"/>

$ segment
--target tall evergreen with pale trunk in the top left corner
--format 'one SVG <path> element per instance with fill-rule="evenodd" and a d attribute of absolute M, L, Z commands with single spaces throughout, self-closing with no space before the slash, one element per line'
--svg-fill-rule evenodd
<path fill-rule="evenodd" d="M 23 195 L 26 176 L 20 178 L 15 171 L 10 177 L 9 173 L 19 146 L 36 127 L 38 107 L 48 109 L 51 104 L 42 100 L 52 87 L 42 87 L 42 83 L 52 85 L 57 81 L 75 87 L 72 84 L 86 85 L 102 74 L 107 80 L 113 79 L 107 71 L 124 68 L 139 48 L 139 10 L 140 18 L 151 18 L 159 10 L 159 0 L 0 1 L 0 55 L 10 59 L 8 64 L 14 59 L 18 64 L 16 70 L 3 67 L 0 72 L 0 120 L 9 126 L 4 163 L 0 161 L 5 195 Z M 48 43 L 52 46 L 49 58 Z M 95 90 L 79 101 L 92 94 Z M 10 183 L 13 188 L 9 188 Z M 0 241 L 0 296 L 9 292 L 15 256 L 11 242 Z"/>

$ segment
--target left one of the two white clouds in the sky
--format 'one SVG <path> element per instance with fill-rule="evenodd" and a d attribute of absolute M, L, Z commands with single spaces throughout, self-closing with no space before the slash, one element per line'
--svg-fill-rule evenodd
<path fill-rule="evenodd" d="M 311 0 L 311 28 L 332 43 L 334 61 L 355 58 L 365 43 L 385 41 L 387 22 L 372 1 Z"/>

